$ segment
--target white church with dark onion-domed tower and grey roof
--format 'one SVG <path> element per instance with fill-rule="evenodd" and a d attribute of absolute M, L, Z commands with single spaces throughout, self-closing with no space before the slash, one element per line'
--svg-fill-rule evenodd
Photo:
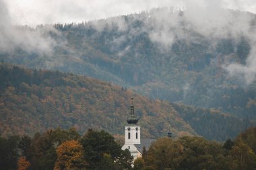
<path fill-rule="evenodd" d="M 140 126 L 137 125 L 139 118 L 135 116 L 133 98 L 131 98 L 131 111 L 129 117 L 127 118 L 128 125 L 125 126 L 125 144 L 122 147 L 122 150 L 126 148 L 130 151 L 133 160 L 142 156 L 143 147 L 148 150 L 150 144 L 154 139 L 141 139 Z"/>

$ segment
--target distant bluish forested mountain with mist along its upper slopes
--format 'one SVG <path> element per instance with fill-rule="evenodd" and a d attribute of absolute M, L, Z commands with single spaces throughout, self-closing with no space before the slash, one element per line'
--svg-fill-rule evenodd
<path fill-rule="evenodd" d="M 223 9 L 197 17 L 189 10 L 158 8 L 53 28 L 21 27 L 42 32 L 51 44 L 38 44 L 39 50 L 16 44 L 1 50 L 0 59 L 88 75 L 154 99 L 255 119 L 255 15 Z"/>

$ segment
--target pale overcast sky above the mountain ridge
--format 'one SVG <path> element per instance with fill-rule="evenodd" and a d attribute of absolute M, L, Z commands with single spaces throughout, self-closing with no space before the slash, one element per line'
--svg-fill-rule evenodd
<path fill-rule="evenodd" d="M 82 22 L 116 15 L 138 13 L 152 7 L 188 4 L 205 5 L 210 1 L 220 7 L 256 13 L 255 0 L 0 0 L 6 3 L 14 24 L 36 26 L 57 22 Z M 212 3 L 211 2 L 211 3 Z"/>

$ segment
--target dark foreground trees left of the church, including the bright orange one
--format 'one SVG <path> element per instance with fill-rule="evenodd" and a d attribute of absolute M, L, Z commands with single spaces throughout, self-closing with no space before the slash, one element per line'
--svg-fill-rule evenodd
<path fill-rule="evenodd" d="M 30 136 L 0 137 L 0 167 L 5 170 L 130 169 L 133 158 L 114 137 L 88 130 L 46 130 Z"/>

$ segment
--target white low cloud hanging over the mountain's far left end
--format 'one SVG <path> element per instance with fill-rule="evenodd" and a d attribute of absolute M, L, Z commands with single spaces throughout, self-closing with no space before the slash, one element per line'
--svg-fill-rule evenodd
<path fill-rule="evenodd" d="M 0 21 L 1 52 L 11 52 L 19 48 L 26 52 L 51 54 L 55 41 L 48 33 L 56 32 L 52 26 L 15 26 L 4 1 L 0 1 Z"/>

